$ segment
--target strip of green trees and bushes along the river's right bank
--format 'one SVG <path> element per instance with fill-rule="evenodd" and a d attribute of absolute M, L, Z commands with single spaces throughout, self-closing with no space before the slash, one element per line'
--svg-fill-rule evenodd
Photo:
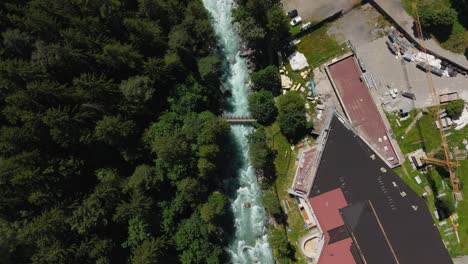
<path fill-rule="evenodd" d="M 284 172 L 277 171 L 277 163 L 287 157 L 283 157 L 284 149 L 279 153 L 274 148 L 276 134 L 272 136 L 271 131 L 279 127 L 282 135 L 276 136 L 277 141 L 289 148 L 288 142 L 296 143 L 302 139 L 313 125 L 306 121 L 305 102 L 298 93 L 278 96 L 281 84 L 276 55 L 290 36 L 289 21 L 280 1 L 239 0 L 237 3 L 234 20 L 246 45 L 256 50 L 257 70 L 251 76 L 254 93 L 250 95 L 249 107 L 259 124 L 249 136 L 250 160 L 261 182 L 262 202 L 270 216 L 269 222 L 274 223 L 269 226 L 274 257 L 278 263 L 293 263 L 297 254 L 288 239 L 288 219 L 280 206 L 278 193 L 282 190 L 276 189 L 277 181 L 287 181 L 286 175 L 279 176 Z"/>

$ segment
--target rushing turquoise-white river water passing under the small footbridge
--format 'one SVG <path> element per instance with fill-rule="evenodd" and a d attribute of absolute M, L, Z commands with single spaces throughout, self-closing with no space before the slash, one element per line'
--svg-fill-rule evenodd
<path fill-rule="evenodd" d="M 222 49 L 225 67 L 224 87 L 231 91 L 225 114 L 249 116 L 247 65 L 239 56 L 240 38 L 232 26 L 231 12 L 234 0 L 203 0 L 205 8 L 214 21 L 213 27 Z M 249 164 L 249 144 L 246 136 L 251 132 L 248 126 L 231 126 L 231 137 L 236 145 L 240 165 L 236 169 L 238 189 L 232 198 L 231 208 L 235 217 L 235 236 L 228 250 L 233 263 L 273 263 L 266 212 L 261 204 L 261 190 L 254 169 Z"/>

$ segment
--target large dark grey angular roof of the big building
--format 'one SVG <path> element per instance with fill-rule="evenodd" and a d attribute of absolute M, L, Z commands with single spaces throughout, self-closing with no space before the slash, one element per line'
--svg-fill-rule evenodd
<path fill-rule="evenodd" d="M 342 189 L 343 219 L 367 263 L 452 263 L 425 202 L 336 116 L 329 128 L 310 196 Z"/>

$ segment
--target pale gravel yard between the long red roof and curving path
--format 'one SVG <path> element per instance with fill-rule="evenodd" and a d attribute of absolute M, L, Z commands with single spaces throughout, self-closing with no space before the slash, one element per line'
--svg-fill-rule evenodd
<path fill-rule="evenodd" d="M 370 5 L 353 9 L 331 24 L 328 33 L 341 40 L 350 40 L 358 58 L 364 63 L 368 73 L 372 74 L 377 84 L 371 93 L 377 104 L 387 102 L 385 109 L 398 110 L 401 104 L 409 99 L 400 94 L 396 99 L 385 95 L 392 89 L 409 91 L 416 95 L 414 106 L 427 107 L 433 104 L 426 79 L 426 73 L 416 68 L 415 62 L 405 62 L 393 55 L 385 41 L 389 24 L 382 23 L 380 14 Z M 384 28 L 385 27 L 385 28 Z M 437 93 L 458 92 L 460 98 L 468 101 L 468 77 L 459 74 L 457 77 L 438 77 L 432 75 Z"/>

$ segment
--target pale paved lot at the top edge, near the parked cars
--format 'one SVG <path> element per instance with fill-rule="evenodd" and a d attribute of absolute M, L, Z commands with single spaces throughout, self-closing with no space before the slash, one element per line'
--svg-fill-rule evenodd
<path fill-rule="evenodd" d="M 357 0 L 282 0 L 285 11 L 297 9 L 304 20 L 321 21 L 341 10 L 351 9 Z"/>

